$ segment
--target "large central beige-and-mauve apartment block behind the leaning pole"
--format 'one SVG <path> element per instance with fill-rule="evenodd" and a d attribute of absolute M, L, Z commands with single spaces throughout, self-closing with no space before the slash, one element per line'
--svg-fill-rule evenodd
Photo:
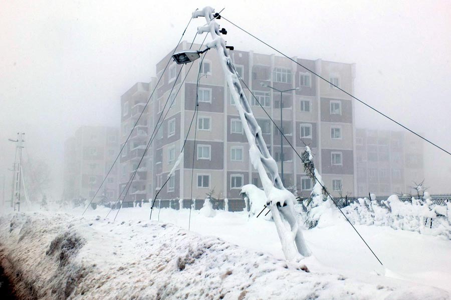
<path fill-rule="evenodd" d="M 182 42 L 178 49 L 188 47 L 189 44 Z M 163 72 L 171 53 L 157 63 L 157 77 Z M 237 71 L 277 124 L 281 122 L 280 93 L 273 92 L 261 83 L 281 90 L 299 87 L 297 90 L 283 93 L 284 133 L 299 153 L 302 153 L 305 144 L 312 148 L 316 167 L 331 193 L 335 195 L 354 193 L 354 104 L 351 98 L 285 57 L 239 50 L 232 51 L 231 55 Z M 294 59 L 330 79 L 334 84 L 353 92 L 355 77 L 353 64 L 321 59 L 308 60 L 297 57 Z M 137 197 L 153 198 L 155 190 L 166 181 L 180 153 L 194 113 L 196 82 L 200 71 L 197 126 L 191 128 L 184 147 L 183 159 L 158 197 L 198 199 L 204 198 L 214 189 L 214 196 L 217 198 L 238 198 L 242 185 L 254 183 L 259 186 L 261 183 L 258 173 L 251 165 L 248 142 L 216 53 L 206 52 L 202 65 L 200 59 L 193 62 L 189 74 L 188 68 L 189 65 L 182 68 L 182 65 L 171 62 L 156 87 L 156 97 L 152 99 L 152 105 L 149 104 L 148 112 L 145 112 L 148 118 L 146 117 L 146 122 L 142 124 L 143 128 L 147 124 L 147 132 L 144 133 L 148 134 L 153 130 L 154 122 L 163 110 L 166 100 L 169 98 L 169 101 L 172 99 L 175 101 L 170 108 L 164 109 L 163 115 L 166 111 L 168 114 L 156 134 L 156 139 L 152 142 L 153 148 L 149 153 L 152 153 L 150 156 L 153 157 L 153 162 L 151 157 L 146 159 L 147 164 L 144 167 L 152 169 L 152 175 L 149 176 L 147 173 L 146 180 L 138 182 L 139 186 L 134 190 L 139 191 Z M 180 70 L 180 76 L 177 78 Z M 186 79 L 183 81 L 185 76 Z M 174 90 L 169 95 L 174 84 Z M 147 89 L 144 85 L 137 83 L 122 96 L 123 126 L 130 109 L 133 109 L 132 106 L 141 103 L 138 98 L 133 101 L 130 99 L 138 90 L 145 94 L 147 90 L 153 89 Z M 175 95 L 178 89 L 180 91 Z M 279 161 L 280 171 L 279 131 L 251 93 L 246 90 L 246 94 L 262 127 L 268 148 Z M 125 102 L 128 104 L 124 105 Z M 138 113 L 142 106 L 137 107 Z M 122 140 L 130 129 L 131 127 L 122 128 Z M 149 136 L 145 136 L 148 140 Z M 133 147 L 128 149 L 134 152 L 126 155 L 139 156 L 142 145 L 142 140 L 134 143 Z M 308 195 L 313 187 L 312 181 L 305 175 L 301 159 L 286 140 L 283 140 L 283 152 L 285 185 L 296 189 L 298 194 Z M 123 163 L 126 161 L 125 158 L 121 159 Z M 151 167 L 149 163 L 152 164 Z M 128 175 L 128 171 L 132 169 L 122 170 L 121 175 Z M 123 180 L 125 178 L 121 177 L 121 182 L 126 182 Z M 144 178 L 144 175 L 142 177 L 140 175 L 140 178 Z M 144 191 L 147 193 L 144 194 Z"/>

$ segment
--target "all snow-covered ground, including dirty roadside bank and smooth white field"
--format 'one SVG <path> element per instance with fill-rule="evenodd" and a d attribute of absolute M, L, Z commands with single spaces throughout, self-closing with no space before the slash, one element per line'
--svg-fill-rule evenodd
<path fill-rule="evenodd" d="M 107 208 L 81 212 L 0 219 L 0 257 L 20 265 L 26 288 L 55 298 L 194 299 L 447 299 L 451 291 L 443 236 L 357 225 L 385 269 L 337 217 L 304 232 L 314 254 L 303 261 L 307 273 L 284 261 L 273 222 L 245 212 L 192 211 L 190 232 L 188 209 L 161 209 L 159 222 L 157 211 L 148 220 L 148 204 L 122 208 L 116 221 L 104 219 Z"/>

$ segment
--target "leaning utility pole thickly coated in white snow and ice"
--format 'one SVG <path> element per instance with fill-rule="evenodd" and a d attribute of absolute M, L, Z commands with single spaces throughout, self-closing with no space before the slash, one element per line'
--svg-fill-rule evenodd
<path fill-rule="evenodd" d="M 294 213 L 294 201 L 296 198 L 283 185 L 279 176 L 277 163 L 266 146 L 262 129 L 254 117 L 251 105 L 246 98 L 227 47 L 225 46 L 225 41 L 221 36 L 221 32 L 227 31 L 219 30 L 219 25 L 216 23 L 213 13 L 214 9 L 209 6 L 192 13 L 193 18 L 204 16 L 207 21 L 206 25 L 198 27 L 197 33 L 207 32 L 211 35 L 212 41 L 207 43 L 206 46 L 210 49 L 215 48 L 219 56 L 222 70 L 224 71 L 225 78 L 227 78 L 230 92 L 235 100 L 235 105 L 240 114 L 243 128 L 250 145 L 249 154 L 251 162 L 259 172 L 267 197 L 267 205 L 270 207 L 276 223 L 285 258 L 287 260 L 299 261 L 311 253 L 305 243 L 302 230 Z M 289 223 L 290 229 L 285 226 L 283 218 Z"/>

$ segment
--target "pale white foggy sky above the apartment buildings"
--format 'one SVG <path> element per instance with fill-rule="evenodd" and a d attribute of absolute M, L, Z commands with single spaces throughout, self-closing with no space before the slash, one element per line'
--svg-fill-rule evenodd
<path fill-rule="evenodd" d="M 119 126 L 120 95 L 155 75 L 205 5 L 225 7 L 225 17 L 290 56 L 355 62 L 357 97 L 451 150 L 449 1 L 113 2 L 0 1 L 0 180 L 11 184 L 8 137 L 25 131 L 29 152 L 52 165 L 59 197 L 64 140 L 81 125 Z M 203 21 L 193 19 L 184 39 Z M 274 53 L 218 23 L 236 49 Z M 355 106 L 356 126 L 401 130 Z M 426 185 L 450 191 L 451 157 L 424 149 Z"/>

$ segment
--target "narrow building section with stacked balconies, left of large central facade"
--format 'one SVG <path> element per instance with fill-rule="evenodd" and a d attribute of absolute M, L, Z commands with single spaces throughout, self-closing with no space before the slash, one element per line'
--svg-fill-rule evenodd
<path fill-rule="evenodd" d="M 154 128 L 151 117 L 154 104 L 153 99 L 149 100 L 149 87 L 153 89 L 153 86 L 152 83 L 137 82 L 121 96 L 121 147 L 136 124 L 120 157 L 119 193 L 123 192 L 121 200 L 128 189 L 122 204 L 123 207 L 133 206 L 133 202 L 139 203 L 141 200 L 147 200 L 148 194 L 152 192 L 153 143 L 150 144 L 140 164 L 139 161 Z M 148 107 L 144 109 L 147 101 L 149 101 Z M 136 175 L 129 187 L 127 183 L 137 168 Z"/>

